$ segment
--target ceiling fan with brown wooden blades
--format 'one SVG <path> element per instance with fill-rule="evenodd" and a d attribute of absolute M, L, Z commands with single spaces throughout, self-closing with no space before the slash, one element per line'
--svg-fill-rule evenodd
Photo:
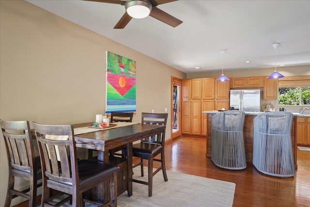
<path fill-rule="evenodd" d="M 134 6 L 138 6 L 143 9 L 148 8 L 149 11 L 147 12 L 146 16 L 152 16 L 153 18 L 158 19 L 159 21 L 162 21 L 170 25 L 171 27 L 176 27 L 183 22 L 180 19 L 177 19 L 174 16 L 171 16 L 170 14 L 157 8 L 159 4 L 169 3 L 176 0 L 87 0 L 87 1 L 115 3 L 125 6 L 126 12 L 122 16 L 122 18 L 117 22 L 114 29 L 124 29 L 124 27 L 133 18 L 133 16 L 130 16 L 128 13 L 130 13 L 130 10 L 134 8 Z M 135 17 L 135 18 L 143 18 L 143 17 Z"/>

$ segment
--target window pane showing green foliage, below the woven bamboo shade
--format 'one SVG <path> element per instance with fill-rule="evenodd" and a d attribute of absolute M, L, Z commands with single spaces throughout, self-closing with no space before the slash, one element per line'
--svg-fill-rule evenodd
<path fill-rule="evenodd" d="M 279 88 L 279 105 L 310 105 L 310 87 Z"/>

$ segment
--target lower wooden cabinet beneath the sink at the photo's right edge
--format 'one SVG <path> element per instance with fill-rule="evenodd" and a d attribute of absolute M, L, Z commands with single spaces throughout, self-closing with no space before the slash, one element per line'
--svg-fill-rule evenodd
<path fill-rule="evenodd" d="M 297 117 L 297 144 L 310 146 L 310 117 Z"/>

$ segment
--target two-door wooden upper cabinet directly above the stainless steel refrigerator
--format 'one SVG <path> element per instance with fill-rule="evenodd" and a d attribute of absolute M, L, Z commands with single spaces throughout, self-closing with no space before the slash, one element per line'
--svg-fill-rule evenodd
<path fill-rule="evenodd" d="M 263 77 L 241 77 L 231 79 L 231 88 L 260 88 L 263 87 Z"/>

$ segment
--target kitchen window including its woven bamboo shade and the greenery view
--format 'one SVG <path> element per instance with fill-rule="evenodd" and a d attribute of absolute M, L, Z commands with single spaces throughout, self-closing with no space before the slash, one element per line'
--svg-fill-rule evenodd
<path fill-rule="evenodd" d="M 310 75 L 279 79 L 279 105 L 310 105 Z"/>

